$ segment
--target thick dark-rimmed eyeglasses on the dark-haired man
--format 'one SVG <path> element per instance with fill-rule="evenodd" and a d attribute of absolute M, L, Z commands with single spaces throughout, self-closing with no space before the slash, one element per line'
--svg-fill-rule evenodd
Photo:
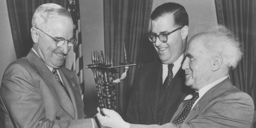
<path fill-rule="evenodd" d="M 155 43 L 156 42 L 156 37 L 159 38 L 159 40 L 163 43 L 167 42 L 168 38 L 167 36 L 177 30 L 180 30 L 181 28 L 183 28 L 184 26 L 181 26 L 179 28 L 176 28 L 174 29 L 173 31 L 171 32 L 168 32 L 168 33 L 161 33 L 159 35 L 157 35 L 156 33 L 148 33 L 148 39 L 152 42 L 152 43 Z"/>

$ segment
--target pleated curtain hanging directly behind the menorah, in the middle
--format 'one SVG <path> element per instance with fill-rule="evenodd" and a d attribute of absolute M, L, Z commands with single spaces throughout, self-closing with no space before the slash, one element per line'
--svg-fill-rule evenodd
<path fill-rule="evenodd" d="M 153 0 L 104 0 L 103 4 L 105 54 L 113 60 L 113 66 L 119 66 L 125 62 L 125 45 L 127 62 L 137 64 L 129 67 L 126 78 L 116 85 L 117 107 L 126 110 L 134 73 L 142 65 Z M 125 70 L 117 71 L 116 78 Z"/>

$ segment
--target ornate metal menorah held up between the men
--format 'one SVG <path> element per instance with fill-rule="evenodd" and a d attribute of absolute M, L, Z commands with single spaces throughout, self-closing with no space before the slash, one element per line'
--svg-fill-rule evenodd
<path fill-rule="evenodd" d="M 125 49 L 125 47 L 124 47 Z M 100 113 L 104 115 L 103 108 L 116 110 L 116 83 L 126 77 L 126 72 L 129 66 L 135 66 L 136 64 L 131 64 L 132 62 L 127 62 L 126 52 L 125 52 L 125 62 L 120 63 L 122 66 L 113 67 L 112 59 L 103 55 L 100 51 L 91 51 L 91 61 L 93 64 L 87 65 L 93 71 L 95 85 L 98 95 L 98 103 L 100 108 Z M 118 73 L 116 68 L 125 67 L 125 72 L 121 75 L 120 79 L 115 80 L 115 74 Z"/>

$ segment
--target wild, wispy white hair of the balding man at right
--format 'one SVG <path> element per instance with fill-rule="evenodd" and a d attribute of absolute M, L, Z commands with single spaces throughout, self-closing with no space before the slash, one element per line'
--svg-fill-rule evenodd
<path fill-rule="evenodd" d="M 222 55 L 224 65 L 230 70 L 236 68 L 244 49 L 243 43 L 232 31 L 222 25 L 204 25 L 197 27 L 193 32 L 193 35 L 195 34 L 203 34 L 209 40 L 214 40 L 204 42 L 204 47 L 212 55 Z"/>

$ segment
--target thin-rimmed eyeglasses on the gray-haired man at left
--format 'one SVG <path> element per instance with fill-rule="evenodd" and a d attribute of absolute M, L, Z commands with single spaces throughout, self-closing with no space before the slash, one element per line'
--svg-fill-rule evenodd
<path fill-rule="evenodd" d="M 39 29 L 39 28 L 36 28 L 36 29 Z M 45 33 L 43 30 L 39 29 L 40 31 L 42 31 L 44 34 L 48 35 L 47 33 Z M 63 45 L 66 41 L 68 42 L 68 47 L 71 47 L 74 45 L 74 43 L 77 41 L 77 39 L 75 38 L 72 38 L 72 39 L 69 39 L 69 40 L 66 40 L 62 37 L 51 37 L 51 35 L 48 35 L 50 38 L 52 38 L 55 42 L 56 42 L 56 46 L 57 47 L 60 47 L 61 45 Z"/>

